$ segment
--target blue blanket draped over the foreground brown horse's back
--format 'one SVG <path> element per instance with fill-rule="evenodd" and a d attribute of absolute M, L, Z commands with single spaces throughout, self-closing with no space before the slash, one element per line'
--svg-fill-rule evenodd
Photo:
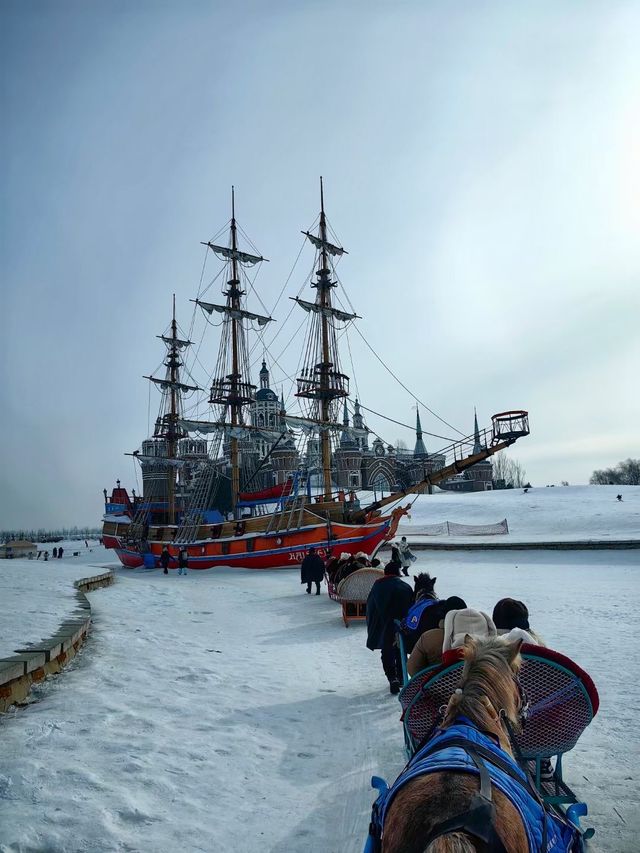
<path fill-rule="evenodd" d="M 478 761 L 478 758 L 480 761 Z M 482 761 L 484 759 L 486 764 Z M 446 832 L 467 831 L 489 843 L 492 851 L 504 849 L 502 842 L 491 826 L 492 806 L 490 795 L 486 796 L 483 776 L 488 772 L 490 784 L 501 791 L 517 809 L 527 835 L 530 853 L 579 853 L 583 850 L 578 830 L 556 815 L 545 811 L 539 797 L 530 786 L 526 773 L 486 734 L 460 719 L 455 725 L 440 730 L 409 761 L 391 788 L 378 779 L 376 787 L 380 794 L 374 803 L 369 838 L 365 853 L 379 853 L 382 831 L 387 811 L 398 791 L 410 782 L 428 773 L 453 771 L 479 776 L 480 795 L 476 795 L 471 808 L 434 827 L 429 841 Z M 376 777 L 377 779 L 377 777 Z M 382 787 L 380 783 L 382 782 Z M 483 797 L 483 793 L 485 796 Z M 484 835 L 483 835 L 484 832 Z M 487 835 L 487 837 L 485 837 Z M 497 841 L 496 841 L 497 839 Z M 499 845 L 499 846 L 498 846 Z"/>

